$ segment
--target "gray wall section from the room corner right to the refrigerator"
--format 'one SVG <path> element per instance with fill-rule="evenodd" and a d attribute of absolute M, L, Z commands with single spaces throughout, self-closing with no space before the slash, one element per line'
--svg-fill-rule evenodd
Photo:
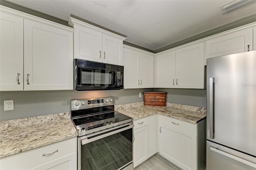
<path fill-rule="evenodd" d="M 206 89 L 153 89 L 167 92 L 166 101 L 197 107 L 206 107 Z"/>

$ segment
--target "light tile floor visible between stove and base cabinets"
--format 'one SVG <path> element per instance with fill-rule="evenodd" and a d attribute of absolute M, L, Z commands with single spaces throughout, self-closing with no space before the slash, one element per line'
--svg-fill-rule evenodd
<path fill-rule="evenodd" d="M 140 165 L 136 166 L 134 170 L 181 170 L 178 166 L 166 160 L 158 153 L 154 154 Z"/>

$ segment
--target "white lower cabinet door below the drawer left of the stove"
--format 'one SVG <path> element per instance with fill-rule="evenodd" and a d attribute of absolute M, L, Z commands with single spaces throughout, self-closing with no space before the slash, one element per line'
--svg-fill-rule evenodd
<path fill-rule="evenodd" d="M 61 158 L 52 160 L 45 164 L 36 166 L 29 170 L 76 170 L 77 169 L 77 153 L 63 156 Z"/>

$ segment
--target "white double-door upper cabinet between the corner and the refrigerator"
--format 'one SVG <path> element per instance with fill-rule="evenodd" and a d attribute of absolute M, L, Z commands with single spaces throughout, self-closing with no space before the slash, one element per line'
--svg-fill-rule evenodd
<path fill-rule="evenodd" d="M 204 43 L 156 56 L 156 87 L 204 88 Z"/>

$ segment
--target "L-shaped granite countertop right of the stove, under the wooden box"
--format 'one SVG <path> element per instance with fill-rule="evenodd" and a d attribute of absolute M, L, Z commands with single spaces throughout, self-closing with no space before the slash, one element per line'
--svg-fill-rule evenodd
<path fill-rule="evenodd" d="M 176 108 L 179 107 L 179 108 Z M 180 109 L 182 108 L 182 109 Z M 190 110 L 188 110 L 190 109 Z M 192 111 L 191 111 L 192 110 Z M 160 114 L 190 123 L 198 123 L 206 118 L 206 109 L 202 107 L 192 107 L 188 105 L 178 105 L 170 103 L 163 106 L 137 106 L 127 109 L 118 109 L 118 112 L 132 117 L 134 121 L 154 114 Z"/>

